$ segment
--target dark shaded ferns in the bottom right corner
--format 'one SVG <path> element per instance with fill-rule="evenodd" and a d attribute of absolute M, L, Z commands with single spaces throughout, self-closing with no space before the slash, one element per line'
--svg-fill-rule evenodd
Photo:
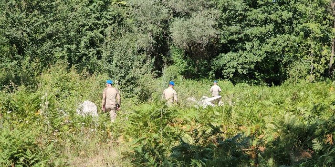
<path fill-rule="evenodd" d="M 335 165 L 335 115 L 301 120 L 287 113 L 275 125 L 278 134 L 266 144 L 267 149 L 260 154 L 263 159 L 274 159 L 277 164 L 287 166 Z"/>

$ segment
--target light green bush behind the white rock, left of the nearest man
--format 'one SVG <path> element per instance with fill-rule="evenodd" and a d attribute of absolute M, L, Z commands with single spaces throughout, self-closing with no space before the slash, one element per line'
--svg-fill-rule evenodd
<path fill-rule="evenodd" d="M 41 74 L 37 92 L 54 97 L 58 110 L 73 114 L 85 100 L 101 108 L 107 79 L 107 75 L 90 75 L 85 71 L 78 73 L 74 68 L 67 70 L 66 65 L 58 64 Z"/>

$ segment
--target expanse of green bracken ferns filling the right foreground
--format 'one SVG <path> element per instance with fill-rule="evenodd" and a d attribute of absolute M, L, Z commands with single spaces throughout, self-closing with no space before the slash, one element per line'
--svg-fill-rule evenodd
<path fill-rule="evenodd" d="M 221 83 L 222 107 L 197 109 L 183 101 L 183 108 L 153 102 L 131 109 L 122 135 L 133 143 L 135 165 L 335 165 L 333 83 Z M 176 88 L 184 89 L 192 87 Z"/>

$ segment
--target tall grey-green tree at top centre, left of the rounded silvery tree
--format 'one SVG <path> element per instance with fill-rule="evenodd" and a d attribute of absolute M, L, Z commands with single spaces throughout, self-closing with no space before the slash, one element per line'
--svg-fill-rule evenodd
<path fill-rule="evenodd" d="M 130 0 L 132 31 L 136 36 L 137 52 L 154 59 L 154 70 L 161 70 L 169 51 L 171 11 L 159 0 Z"/>

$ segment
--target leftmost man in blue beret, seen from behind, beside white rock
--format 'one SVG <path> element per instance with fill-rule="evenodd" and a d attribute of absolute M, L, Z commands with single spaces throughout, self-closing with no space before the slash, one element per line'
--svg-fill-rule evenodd
<path fill-rule="evenodd" d="M 120 110 L 121 97 L 118 89 L 112 86 L 113 81 L 106 81 L 106 88 L 103 93 L 102 110 L 104 112 L 109 112 L 111 117 L 111 122 L 116 119 L 116 111 Z"/>

